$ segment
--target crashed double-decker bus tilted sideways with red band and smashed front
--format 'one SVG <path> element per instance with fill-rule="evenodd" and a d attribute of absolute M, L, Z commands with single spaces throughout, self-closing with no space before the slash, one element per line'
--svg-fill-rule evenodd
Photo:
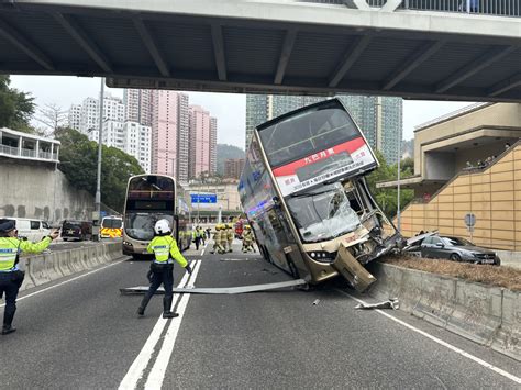
<path fill-rule="evenodd" d="M 363 265 L 400 239 L 365 180 L 377 167 L 337 99 L 257 126 L 239 192 L 263 256 L 310 283 L 341 274 L 366 289 Z"/>

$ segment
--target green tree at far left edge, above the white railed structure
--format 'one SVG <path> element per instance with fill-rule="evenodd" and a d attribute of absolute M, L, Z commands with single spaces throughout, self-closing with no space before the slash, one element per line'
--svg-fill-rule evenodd
<path fill-rule="evenodd" d="M 33 133 L 30 120 L 34 113 L 34 98 L 10 88 L 10 83 L 9 76 L 0 75 L 0 127 Z"/>

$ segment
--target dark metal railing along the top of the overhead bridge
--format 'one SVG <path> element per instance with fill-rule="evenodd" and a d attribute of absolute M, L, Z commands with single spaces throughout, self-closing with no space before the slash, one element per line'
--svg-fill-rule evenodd
<path fill-rule="evenodd" d="M 301 0 L 322 4 L 357 8 L 355 0 Z M 364 0 L 361 0 L 364 1 Z M 365 0 L 372 8 L 381 8 L 387 0 Z M 521 0 L 402 0 L 397 10 L 456 12 L 498 16 L 521 16 Z"/>

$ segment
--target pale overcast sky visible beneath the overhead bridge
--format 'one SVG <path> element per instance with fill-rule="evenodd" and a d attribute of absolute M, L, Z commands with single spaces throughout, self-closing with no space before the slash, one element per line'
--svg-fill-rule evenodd
<path fill-rule="evenodd" d="M 100 79 L 69 76 L 11 76 L 11 86 L 31 92 L 36 104 L 57 104 L 68 110 L 87 97 L 99 97 Z M 122 89 L 108 89 L 123 97 Z M 218 119 L 218 143 L 244 148 L 246 97 L 239 93 L 188 92 L 190 104 L 203 105 Z M 414 126 L 470 102 L 403 101 L 403 138 L 413 137 Z"/>

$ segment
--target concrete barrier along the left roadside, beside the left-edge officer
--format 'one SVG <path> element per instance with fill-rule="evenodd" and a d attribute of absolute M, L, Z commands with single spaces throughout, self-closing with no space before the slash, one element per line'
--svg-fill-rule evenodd
<path fill-rule="evenodd" d="M 21 290 L 99 267 L 119 257 L 122 257 L 121 243 L 103 243 L 21 257 L 20 268 L 25 270 L 25 279 Z"/>

